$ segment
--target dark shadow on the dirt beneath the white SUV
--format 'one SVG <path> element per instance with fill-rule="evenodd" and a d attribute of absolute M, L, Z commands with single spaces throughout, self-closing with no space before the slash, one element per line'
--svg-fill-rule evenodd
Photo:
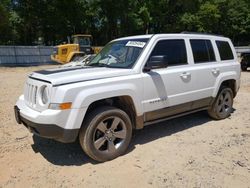
<path fill-rule="evenodd" d="M 171 136 L 180 131 L 203 125 L 211 121 L 206 112 L 197 112 L 134 131 L 132 142 L 126 153 L 135 149 L 135 145 L 147 144 L 162 137 Z M 75 143 L 64 144 L 54 140 L 33 136 L 33 150 L 39 152 L 47 161 L 59 166 L 80 166 L 86 163 L 98 164 L 90 159 L 81 149 L 78 140 Z"/>

